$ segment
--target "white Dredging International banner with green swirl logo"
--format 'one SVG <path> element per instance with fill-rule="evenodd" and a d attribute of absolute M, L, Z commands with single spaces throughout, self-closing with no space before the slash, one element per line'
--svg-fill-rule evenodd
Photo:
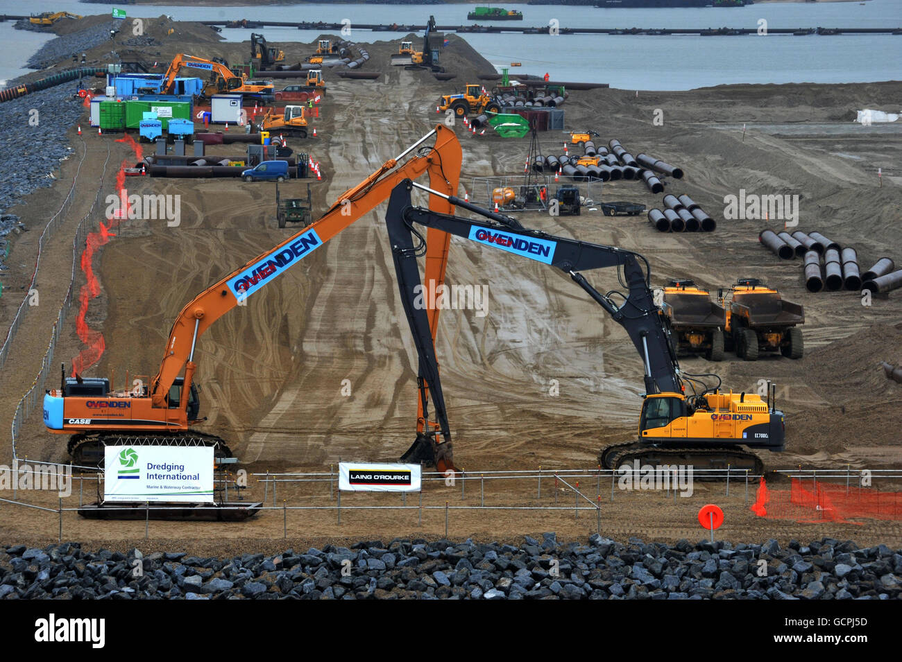
<path fill-rule="evenodd" d="M 213 449 L 107 446 L 104 501 L 213 503 Z"/>

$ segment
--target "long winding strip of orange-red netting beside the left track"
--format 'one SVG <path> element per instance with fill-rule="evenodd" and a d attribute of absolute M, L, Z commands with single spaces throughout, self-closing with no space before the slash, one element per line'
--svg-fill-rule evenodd
<path fill-rule="evenodd" d="M 118 139 L 116 142 L 127 142 L 134 151 L 137 159 L 143 159 L 143 150 L 141 145 L 133 141 L 129 135 Z M 125 169 L 128 168 L 128 162 L 123 160 L 122 166 L 115 177 L 116 190 L 119 191 L 120 200 L 119 207 L 113 214 L 112 218 L 107 219 L 106 223 L 100 222 L 100 229 L 96 232 L 88 232 L 85 240 L 85 249 L 81 252 L 79 265 L 81 271 L 85 274 L 85 285 L 81 286 L 78 294 L 78 317 L 75 320 L 75 331 L 78 334 L 78 340 L 85 344 L 85 348 L 78 352 L 78 356 L 72 359 L 72 376 L 81 375 L 84 371 L 93 366 L 106 350 L 106 340 L 101 331 L 93 331 L 87 326 L 87 308 L 91 299 L 100 295 L 100 283 L 94 274 L 94 253 L 101 246 L 106 244 L 115 234 L 111 232 L 123 219 L 128 218 L 128 195 L 125 191 Z"/>

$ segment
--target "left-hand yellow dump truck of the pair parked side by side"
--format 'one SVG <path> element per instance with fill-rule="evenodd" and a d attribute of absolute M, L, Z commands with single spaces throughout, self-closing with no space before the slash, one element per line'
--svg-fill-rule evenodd
<path fill-rule="evenodd" d="M 667 281 L 661 315 L 670 329 L 676 356 L 704 354 L 710 361 L 723 360 L 727 313 L 711 300 L 707 290 L 688 279 Z"/>

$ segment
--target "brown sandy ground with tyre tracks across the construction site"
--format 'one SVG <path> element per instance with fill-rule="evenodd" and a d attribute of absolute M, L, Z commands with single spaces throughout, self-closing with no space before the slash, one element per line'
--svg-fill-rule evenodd
<path fill-rule="evenodd" d="M 296 44 L 279 46 L 289 58 L 299 50 Z M 170 56 L 177 48 L 171 43 L 161 51 Z M 239 48 L 217 44 L 209 50 L 238 60 L 245 56 Z M 315 213 L 427 132 L 437 122 L 438 95 L 475 82 L 486 67 L 484 61 L 468 61 L 465 45 L 455 39 L 446 66 L 455 65 L 452 70 L 459 75 L 440 83 L 426 72 L 389 67 L 395 49 L 390 42 L 368 47 L 373 57 L 368 68 L 386 72 L 378 81 L 327 78 L 326 102 L 315 122 L 320 138 L 291 145 L 309 150 L 322 163 L 325 177 L 312 183 Z M 902 468 L 897 428 L 902 386 L 888 381 L 877 367 L 880 360 L 902 362 L 902 297 L 877 297 L 864 306 L 856 293 L 808 293 L 798 260 L 780 261 L 759 245 L 765 222 L 723 219 L 724 195 L 738 195 L 741 188 L 763 195 L 797 194 L 800 230 L 821 231 L 854 247 L 862 269 L 884 255 L 902 261 L 902 172 L 897 167 L 902 136 L 895 127 L 851 123 L 856 109 L 881 108 L 900 91 L 902 83 L 721 86 L 638 96 L 623 90 L 573 92 L 563 106 L 568 129 L 593 129 L 601 141 L 617 138 L 633 154 L 644 151 L 679 165 L 686 178 L 671 182 L 667 192 L 692 196 L 718 221 L 717 231 L 661 234 L 644 216 L 609 218 L 590 211 L 559 218 L 526 213 L 521 221 L 553 234 L 636 250 L 649 258 L 656 286 L 667 277 L 692 277 L 716 289 L 737 277 L 759 277 L 778 287 L 785 298 L 805 305 L 805 358 L 775 356 L 747 363 L 728 355 L 719 364 L 689 358 L 686 369 L 713 370 L 733 390 L 755 390 L 760 379 L 777 382 L 778 404 L 787 413 L 787 450 L 765 453 L 768 469 Z M 663 113 L 662 126 L 653 123 L 657 110 Z M 458 130 L 465 152 L 462 182 L 468 189 L 471 177 L 521 172 L 528 141 Z M 558 153 L 566 137 L 543 132 L 539 142 L 546 153 Z M 73 144 L 78 156 L 87 154 L 78 200 L 43 258 L 41 305 L 27 316 L 0 375 L 4 425 L 40 367 L 50 324 L 68 285 L 71 231 L 84 213 L 77 210 L 87 209 L 97 186 L 105 194 L 114 192 L 115 169 L 130 153 L 108 136 L 73 135 Z M 101 181 L 107 148 L 111 165 Z M 233 152 L 238 150 L 228 153 Z M 14 213 L 32 228 L 49 217 L 68 190 L 78 156 L 63 167 L 57 186 L 32 195 Z M 882 187 L 877 168 L 883 168 Z M 124 383 L 126 369 L 130 376 L 155 373 L 170 324 L 186 301 L 290 232 L 276 226 L 271 184 L 131 179 L 130 193 L 181 195 L 181 224 L 126 222 L 95 259 L 102 293 L 91 303 L 87 320 L 104 332 L 106 353 L 90 374 L 115 375 L 117 385 Z M 302 192 L 306 182 L 282 189 L 282 195 Z M 660 195 L 635 182 L 605 185 L 602 199 L 660 204 Z M 318 471 L 339 458 L 391 461 L 410 445 L 416 416 L 415 352 L 393 279 L 383 209 L 355 222 L 246 307 L 228 313 L 198 342 L 201 413 L 207 416 L 203 430 L 229 440 L 248 470 Z M 782 229 L 782 222 L 767 224 Z M 11 265 L 33 262 L 37 233 L 16 238 Z M 614 273 L 587 277 L 602 291 L 617 286 Z M 471 472 L 539 465 L 591 468 L 601 446 L 634 436 L 642 392 L 640 359 L 621 328 L 568 277 L 453 240 L 447 282 L 489 287 L 487 315 L 445 311 L 440 321 L 437 352 L 459 466 Z M 18 304 L 13 298 L 0 302 L 4 323 L 14 311 L 11 304 Z M 56 362 L 69 364 L 80 349 L 74 321 L 73 312 Z M 345 379 L 350 380 L 350 396 L 341 394 Z M 557 395 L 549 394 L 551 380 L 557 380 Z M 4 436 L 8 439 L 8 432 Z M 65 440 L 47 434 L 38 415 L 24 426 L 17 444 L 19 454 L 28 458 L 67 457 Z M 9 461 L 8 444 L 0 457 Z M 525 504 L 530 490 L 499 492 L 496 503 Z M 432 505 L 443 501 L 437 492 L 430 498 Z M 836 527 L 757 521 L 744 503 L 732 505 L 735 529 L 723 535 L 734 540 L 822 535 L 902 540 L 897 523 Z M 605 508 L 603 531 L 659 540 L 697 535 L 692 509 L 678 508 L 677 513 L 674 508 L 636 495 Z M 279 519 L 275 525 L 274 517 Z M 290 514 L 290 531 L 302 528 L 303 540 L 444 534 L 444 513 L 438 511 L 424 515 L 421 530 L 410 512 L 349 513 L 347 526 L 340 529 L 329 524 L 330 517 Z M 0 531 L 6 540 L 55 540 L 55 518 L 4 507 Z M 121 546 L 143 538 L 143 522 L 86 522 L 74 513 L 67 518 L 65 530 L 81 540 Z M 579 523 L 565 523 L 559 513 L 468 511 L 452 518 L 450 534 L 455 537 L 501 539 L 547 530 L 577 536 L 595 528 L 591 515 Z M 281 514 L 268 513 L 244 525 L 152 522 L 151 527 L 161 546 L 205 539 L 197 542 L 198 549 L 229 550 L 245 543 L 259 547 L 266 544 L 261 539 L 271 536 L 281 539 Z M 281 540 L 272 544 L 280 547 Z"/>

